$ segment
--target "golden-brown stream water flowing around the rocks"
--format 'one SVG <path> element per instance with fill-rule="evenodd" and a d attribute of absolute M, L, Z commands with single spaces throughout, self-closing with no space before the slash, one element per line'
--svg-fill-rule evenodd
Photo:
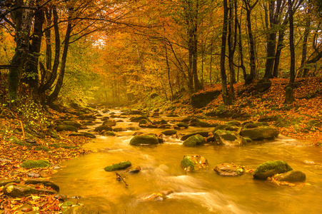
<path fill-rule="evenodd" d="M 116 127 L 139 127 L 128 118 L 122 120 Z M 189 127 L 178 133 L 212 129 Z M 159 134 L 163 129 L 140 131 Z M 303 146 L 281 135 L 274 141 L 258 141 L 243 147 L 209 144 L 191 148 L 171 137 L 156 146 L 130 146 L 133 133 L 98 136 L 84 145 L 97 152 L 62 163 L 66 168 L 61 168 L 51 180 L 59 185 L 61 193 L 80 195 L 79 202 L 100 213 L 322 213 L 321 148 Z M 186 173 L 181 160 L 191 154 L 205 157 L 208 168 Z M 254 180 L 251 173 L 223 177 L 213 171 L 220 163 L 256 168 L 263 162 L 276 160 L 286 161 L 293 170 L 306 173 L 306 183 L 311 185 L 278 186 Z M 141 167 L 137 174 L 122 174 L 128 187 L 116 180 L 115 172 L 104 170 L 107 165 L 121 161 Z M 144 200 L 164 191 L 170 193 L 165 200 Z"/>

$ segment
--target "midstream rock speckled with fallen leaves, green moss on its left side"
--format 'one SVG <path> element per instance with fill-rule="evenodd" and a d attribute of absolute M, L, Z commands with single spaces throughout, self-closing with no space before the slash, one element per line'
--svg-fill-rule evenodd
<path fill-rule="evenodd" d="M 181 161 L 181 167 L 187 172 L 206 168 L 207 166 L 207 159 L 203 156 L 198 155 L 183 156 L 183 159 Z"/>

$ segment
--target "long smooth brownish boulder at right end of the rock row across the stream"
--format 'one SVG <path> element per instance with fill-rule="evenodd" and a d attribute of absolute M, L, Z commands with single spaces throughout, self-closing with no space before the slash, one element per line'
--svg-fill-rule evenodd
<path fill-rule="evenodd" d="M 276 138 L 279 134 L 278 128 L 271 126 L 259 126 L 258 128 L 244 128 L 241 136 L 251 138 L 251 140 L 263 140 Z"/>

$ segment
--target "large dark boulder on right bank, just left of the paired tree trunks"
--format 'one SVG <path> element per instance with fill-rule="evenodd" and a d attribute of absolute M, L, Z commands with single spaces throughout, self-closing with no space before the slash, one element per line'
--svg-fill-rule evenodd
<path fill-rule="evenodd" d="M 221 91 L 206 91 L 203 93 L 194 93 L 191 96 L 191 106 L 193 108 L 203 108 L 208 103 L 213 101 L 217 96 L 221 94 Z"/>

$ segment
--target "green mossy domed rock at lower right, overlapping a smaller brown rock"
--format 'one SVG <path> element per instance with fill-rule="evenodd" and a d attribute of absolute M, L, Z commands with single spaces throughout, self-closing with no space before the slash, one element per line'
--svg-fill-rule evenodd
<path fill-rule="evenodd" d="M 253 178 L 266 180 L 268 177 L 272 177 L 275 174 L 286 173 L 293 170 L 285 161 L 267 161 L 258 165 L 253 172 Z"/>

